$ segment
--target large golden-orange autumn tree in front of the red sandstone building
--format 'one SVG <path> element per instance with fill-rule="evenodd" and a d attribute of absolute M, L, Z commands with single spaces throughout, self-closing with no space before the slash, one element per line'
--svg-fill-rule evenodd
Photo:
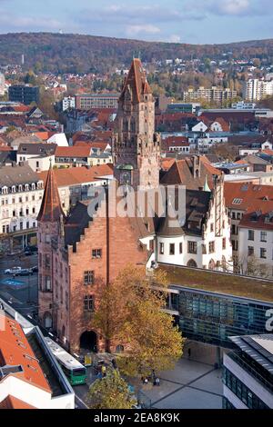
<path fill-rule="evenodd" d="M 95 313 L 94 325 L 106 343 L 124 346 L 116 363 L 129 376 L 171 369 L 182 356 L 184 339 L 172 316 L 162 310 L 166 277 L 155 273 L 152 283 L 143 270 L 127 266 L 102 291 Z"/>

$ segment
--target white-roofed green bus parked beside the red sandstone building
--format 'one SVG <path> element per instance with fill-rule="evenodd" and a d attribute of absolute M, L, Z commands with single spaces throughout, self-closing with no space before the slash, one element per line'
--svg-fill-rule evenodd
<path fill-rule="evenodd" d="M 71 385 L 86 384 L 86 366 L 78 362 L 75 357 L 67 353 L 60 345 L 55 343 L 49 337 L 45 341 L 55 355 L 57 362 L 66 374 L 67 380 Z"/>

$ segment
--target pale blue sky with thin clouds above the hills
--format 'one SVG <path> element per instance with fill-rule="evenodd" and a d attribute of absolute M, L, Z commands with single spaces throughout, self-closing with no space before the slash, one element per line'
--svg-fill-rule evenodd
<path fill-rule="evenodd" d="M 273 0 L 0 0 L 0 33 L 48 31 L 181 43 L 273 38 Z"/>

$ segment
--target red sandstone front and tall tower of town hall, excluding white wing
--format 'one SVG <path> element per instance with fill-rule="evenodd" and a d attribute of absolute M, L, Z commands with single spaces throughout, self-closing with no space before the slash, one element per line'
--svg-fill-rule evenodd
<path fill-rule="evenodd" d="M 115 176 L 121 184 L 129 176 L 135 188 L 159 184 L 160 139 L 154 134 L 154 100 L 144 76 L 140 61 L 134 60 L 117 116 Z M 141 230 L 144 224 L 137 218 L 107 217 L 106 197 L 92 218 L 86 202 L 67 218 L 60 206 L 50 169 L 38 216 L 39 320 L 72 353 L 80 347 L 104 351 L 106 343 L 92 325 L 98 295 L 127 263 L 147 264 L 147 248 L 139 242 L 145 226 Z"/>

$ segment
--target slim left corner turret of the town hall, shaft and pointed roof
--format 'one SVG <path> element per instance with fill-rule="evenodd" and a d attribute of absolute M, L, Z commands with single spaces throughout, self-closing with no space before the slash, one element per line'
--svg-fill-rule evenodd
<path fill-rule="evenodd" d="M 62 239 L 64 213 L 60 204 L 56 178 L 52 167 L 47 174 L 45 192 L 38 223 L 38 263 L 39 263 L 39 320 L 45 328 L 52 328 L 54 308 L 53 294 L 53 253 L 54 244 Z"/>

